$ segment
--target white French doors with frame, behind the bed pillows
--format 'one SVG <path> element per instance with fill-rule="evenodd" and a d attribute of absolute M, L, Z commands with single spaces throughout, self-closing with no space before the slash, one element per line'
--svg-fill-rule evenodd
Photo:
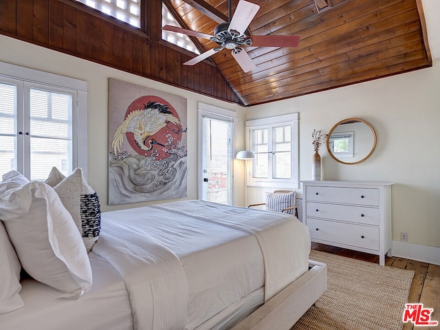
<path fill-rule="evenodd" d="M 85 82 L 5 63 L 0 72 L 0 175 L 45 180 L 53 166 L 87 172 Z"/>

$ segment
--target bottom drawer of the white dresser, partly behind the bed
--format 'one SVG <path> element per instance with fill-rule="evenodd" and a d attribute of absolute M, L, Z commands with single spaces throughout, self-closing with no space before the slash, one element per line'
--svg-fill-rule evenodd
<path fill-rule="evenodd" d="M 307 218 L 310 237 L 357 248 L 379 251 L 379 228 L 338 221 Z"/>

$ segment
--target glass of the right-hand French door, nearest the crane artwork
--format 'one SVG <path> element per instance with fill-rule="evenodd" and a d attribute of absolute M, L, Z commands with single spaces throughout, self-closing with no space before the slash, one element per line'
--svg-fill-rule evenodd
<path fill-rule="evenodd" d="M 44 180 L 53 166 L 72 169 L 72 96 L 30 90 L 30 177 Z"/>

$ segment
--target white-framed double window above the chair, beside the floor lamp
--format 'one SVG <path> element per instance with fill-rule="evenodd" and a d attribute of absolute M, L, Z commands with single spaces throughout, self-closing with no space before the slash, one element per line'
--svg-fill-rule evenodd
<path fill-rule="evenodd" d="M 298 188 L 298 113 L 248 120 L 246 131 L 256 155 L 248 184 Z"/>

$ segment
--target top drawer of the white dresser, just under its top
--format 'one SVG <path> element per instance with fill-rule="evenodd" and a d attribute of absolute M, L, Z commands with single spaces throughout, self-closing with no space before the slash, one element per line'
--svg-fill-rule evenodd
<path fill-rule="evenodd" d="M 379 206 L 379 189 L 307 186 L 307 201 Z"/>

